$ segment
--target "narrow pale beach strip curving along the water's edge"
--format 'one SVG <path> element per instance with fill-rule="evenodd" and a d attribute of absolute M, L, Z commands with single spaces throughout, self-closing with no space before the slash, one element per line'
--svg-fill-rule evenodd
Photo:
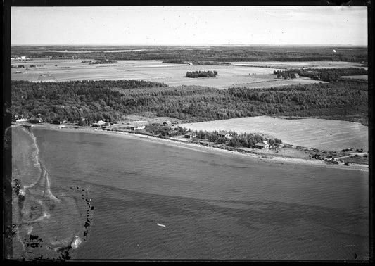
<path fill-rule="evenodd" d="M 15 124 L 20 125 L 20 124 Z M 28 124 L 20 125 L 20 126 L 29 126 Z M 208 146 L 203 146 L 200 144 L 193 144 L 183 141 L 177 141 L 174 139 L 163 139 L 159 137 L 154 136 L 146 136 L 143 134 L 135 134 L 135 133 L 129 133 L 129 132 L 115 132 L 115 131 L 109 131 L 109 130 L 95 130 L 94 128 L 89 127 L 81 127 L 81 128 L 72 128 L 72 127 L 63 127 L 61 128 L 60 125 L 32 125 L 34 128 L 42 128 L 42 129 L 50 129 L 50 130 L 64 130 L 68 132 L 86 132 L 90 134 L 105 134 L 105 135 L 115 135 L 118 137 L 131 137 L 135 139 L 143 139 L 147 141 L 153 141 L 154 143 L 159 144 L 167 144 L 174 147 L 182 147 L 182 148 L 189 148 L 195 151 L 202 151 L 202 152 L 208 152 L 208 153 L 215 153 L 225 156 L 236 156 L 237 158 L 251 158 L 253 160 L 262 160 L 267 163 L 275 163 L 279 165 L 306 165 L 306 166 L 313 166 L 313 167 L 324 167 L 324 168 L 335 168 L 335 169 L 341 169 L 341 170 L 355 170 L 355 171 L 362 171 L 362 172 L 369 172 L 369 165 L 360 165 L 360 164 L 350 164 L 350 165 L 329 165 L 324 163 L 324 161 L 321 160 L 314 160 L 314 159 L 304 159 L 304 158 L 291 158 L 286 156 L 277 156 L 277 155 L 271 155 L 271 156 L 264 156 L 262 154 L 256 154 L 256 153 L 244 153 L 239 151 L 229 151 L 227 149 L 222 148 L 213 148 Z M 270 158 L 271 157 L 271 158 Z"/>

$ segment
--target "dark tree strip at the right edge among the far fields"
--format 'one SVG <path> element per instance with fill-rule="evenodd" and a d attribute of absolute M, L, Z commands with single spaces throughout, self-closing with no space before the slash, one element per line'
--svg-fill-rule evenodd
<path fill-rule="evenodd" d="M 368 75 L 368 73 L 369 71 L 364 68 L 308 68 L 298 70 L 300 76 L 326 82 L 340 80 L 342 76 Z"/>

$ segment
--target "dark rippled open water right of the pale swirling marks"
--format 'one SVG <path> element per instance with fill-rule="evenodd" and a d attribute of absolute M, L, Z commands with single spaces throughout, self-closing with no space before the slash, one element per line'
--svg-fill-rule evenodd
<path fill-rule="evenodd" d="M 367 258 L 368 172 L 32 132 L 51 192 L 87 188 L 95 207 L 76 259 Z"/>

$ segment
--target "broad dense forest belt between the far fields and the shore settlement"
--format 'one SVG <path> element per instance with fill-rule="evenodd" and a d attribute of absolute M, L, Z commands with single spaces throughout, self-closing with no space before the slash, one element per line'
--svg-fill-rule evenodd
<path fill-rule="evenodd" d="M 12 81 L 13 115 L 89 122 L 152 112 L 184 122 L 257 115 L 332 118 L 367 125 L 367 81 L 340 80 L 267 89 L 215 89 L 134 81 Z"/>

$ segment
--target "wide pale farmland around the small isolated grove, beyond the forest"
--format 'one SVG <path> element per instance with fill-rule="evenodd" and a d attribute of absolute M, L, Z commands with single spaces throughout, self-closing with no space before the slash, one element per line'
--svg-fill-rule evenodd
<path fill-rule="evenodd" d="M 286 64 L 294 67 L 317 67 L 317 64 L 330 67 L 353 66 L 349 62 L 244 62 L 231 65 L 183 65 L 164 64 L 160 61 L 117 61 L 113 64 L 82 63 L 80 59 L 34 58 L 30 61 L 14 61 L 12 65 L 12 80 L 28 80 L 32 82 L 64 82 L 70 80 L 147 80 L 164 82 L 170 86 L 200 85 L 227 89 L 228 87 L 276 87 L 289 84 L 316 83 L 309 78 L 295 80 L 280 80 L 273 75 L 274 70 L 284 68 Z M 255 66 L 246 66 L 246 63 Z M 25 68 L 18 68 L 25 65 Z M 30 65 L 35 67 L 30 68 Z M 274 66 L 271 68 L 270 66 Z M 267 68 L 265 68 L 267 66 Z M 195 70 L 216 70 L 216 78 L 187 78 L 186 72 Z"/>

